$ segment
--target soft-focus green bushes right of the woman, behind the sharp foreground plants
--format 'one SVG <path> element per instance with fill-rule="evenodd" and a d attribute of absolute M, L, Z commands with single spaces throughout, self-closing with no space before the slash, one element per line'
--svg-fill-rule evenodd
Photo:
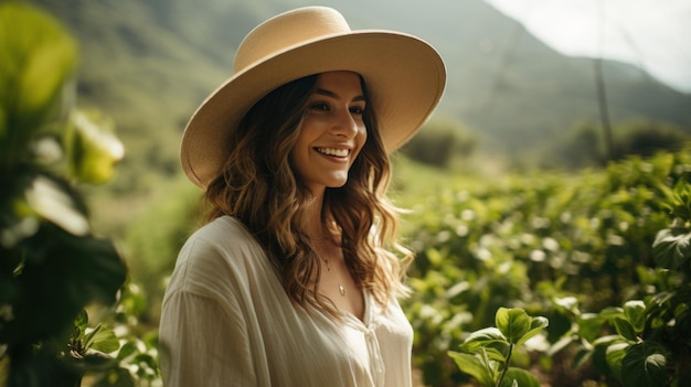
<path fill-rule="evenodd" d="M 425 383 L 467 381 L 446 351 L 490 326 L 499 308 L 548 318 L 546 338 L 554 345 L 572 329 L 574 304 L 597 313 L 650 297 L 642 276 L 656 267 L 652 246 L 669 224 L 669 191 L 689 184 L 690 171 L 691 151 L 682 151 L 632 157 L 577 176 L 512 178 L 472 191 L 448 186 L 421 201 L 410 235 L 417 251 L 414 295 L 404 309 Z M 573 362 L 570 351 L 559 353 L 560 362 Z M 577 375 L 550 356 L 531 358 L 538 363 L 524 359 L 525 367 L 560 386 L 606 377 L 592 368 Z"/>

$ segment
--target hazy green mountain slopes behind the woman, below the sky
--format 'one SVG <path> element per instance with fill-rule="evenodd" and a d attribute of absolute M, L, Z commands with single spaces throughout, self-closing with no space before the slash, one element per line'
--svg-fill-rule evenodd
<path fill-rule="evenodd" d="M 110 114 L 132 166 L 179 170 L 187 119 L 232 73 L 234 49 L 258 22 L 305 0 L 33 0 L 82 44 L 79 101 Z M 393 29 L 435 45 L 448 67 L 437 117 L 507 153 L 544 147 L 598 121 L 594 61 L 564 56 L 481 0 L 325 0 L 353 29 Z M 635 118 L 691 131 L 691 95 L 631 65 L 603 61 L 614 125 Z M 125 184 L 137 184 L 129 174 Z"/>

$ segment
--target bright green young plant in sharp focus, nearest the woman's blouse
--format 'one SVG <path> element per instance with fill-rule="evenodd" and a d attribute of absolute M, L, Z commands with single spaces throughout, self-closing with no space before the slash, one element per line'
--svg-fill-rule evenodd
<path fill-rule="evenodd" d="M 539 387 L 529 372 L 511 367 L 511 356 L 518 346 L 549 325 L 545 318 L 531 318 L 520 308 L 500 308 L 496 327 L 476 331 L 460 345 L 460 352 L 449 351 L 456 365 L 472 375 L 482 387 Z"/>

